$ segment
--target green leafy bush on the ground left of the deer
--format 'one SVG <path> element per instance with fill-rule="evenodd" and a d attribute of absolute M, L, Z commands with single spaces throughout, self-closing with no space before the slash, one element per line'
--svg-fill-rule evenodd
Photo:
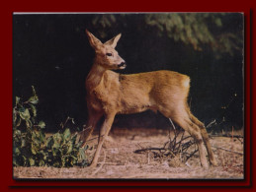
<path fill-rule="evenodd" d="M 87 165 L 85 151 L 77 142 L 77 134 L 71 134 L 68 128 L 48 138 L 43 133 L 45 123 L 37 121 L 36 104 L 39 98 L 33 88 L 33 96 L 27 101 L 16 96 L 13 108 L 13 164 L 15 166 L 70 167 L 81 163 Z M 71 119 L 71 118 L 68 118 Z M 64 128 L 64 127 L 63 127 Z"/>

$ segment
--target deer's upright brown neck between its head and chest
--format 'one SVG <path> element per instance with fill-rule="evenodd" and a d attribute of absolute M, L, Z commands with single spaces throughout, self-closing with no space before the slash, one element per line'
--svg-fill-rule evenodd
<path fill-rule="evenodd" d="M 86 79 L 87 89 L 92 91 L 97 88 L 101 84 L 104 73 L 106 71 L 106 68 L 104 68 L 100 63 L 95 61 Z"/>

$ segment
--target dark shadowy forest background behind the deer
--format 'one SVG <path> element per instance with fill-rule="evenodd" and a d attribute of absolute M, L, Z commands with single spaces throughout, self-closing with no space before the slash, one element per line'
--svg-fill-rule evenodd
<path fill-rule="evenodd" d="M 87 120 L 85 78 L 93 63 L 85 29 L 102 41 L 122 32 L 120 73 L 172 70 L 191 77 L 189 104 L 210 131 L 243 127 L 243 15 L 14 14 L 13 98 L 35 86 L 39 119 L 56 131 L 67 116 Z M 170 126 L 161 114 L 118 115 L 116 127 Z"/>

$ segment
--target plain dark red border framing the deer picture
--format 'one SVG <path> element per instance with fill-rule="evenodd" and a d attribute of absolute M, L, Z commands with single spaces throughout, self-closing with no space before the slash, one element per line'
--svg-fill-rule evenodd
<path fill-rule="evenodd" d="M 2 4 L 2 3 L 1 3 Z M 233 0 L 193 0 L 193 1 L 118 1 L 118 0 L 98 0 L 98 1 L 8 1 L 1 5 L 1 158 L 0 158 L 0 190 L 14 190 L 18 186 L 35 186 L 39 189 L 48 190 L 45 186 L 148 186 L 146 190 L 156 190 L 153 186 L 161 186 L 163 189 L 171 190 L 170 186 L 179 186 L 187 190 L 190 186 L 211 186 L 207 190 L 217 190 L 215 187 L 232 187 L 231 190 L 252 189 L 253 167 L 251 166 L 252 150 L 254 151 L 252 139 L 255 131 L 251 125 L 252 115 L 251 108 L 253 103 L 250 100 L 252 82 L 252 55 L 253 50 L 250 42 L 252 35 L 250 32 L 255 28 L 255 13 L 253 4 L 250 0 L 233 1 Z M 171 181 L 117 181 L 117 180 L 87 180 L 87 181 L 15 181 L 12 179 L 12 13 L 13 12 L 242 12 L 245 15 L 245 109 L 246 109 L 246 179 L 244 181 L 230 180 L 171 180 Z M 250 14 L 252 13 L 252 21 Z M 250 26 L 253 25 L 253 29 Z M 255 32 L 255 31 L 254 31 Z M 251 54 L 250 54 L 251 53 Z M 251 82 L 251 78 L 253 81 Z M 252 118 L 251 118 L 252 117 Z M 184 188 L 186 187 L 186 188 Z M 19 189 L 28 190 L 28 188 L 19 187 Z M 61 190 L 68 189 L 67 187 Z M 112 189 L 110 190 L 121 190 Z M 35 189 L 33 189 L 35 190 Z M 37 189 L 38 190 L 38 189 Z M 53 188 L 53 190 L 55 190 Z M 88 190 L 88 189 L 82 189 Z M 89 189 L 91 190 L 91 189 Z M 101 189 L 100 189 L 101 190 Z M 104 189 L 105 190 L 105 189 Z M 133 190 L 132 188 L 123 188 L 122 190 Z M 191 190 L 191 189 L 190 189 Z M 194 188 L 193 190 L 198 190 Z M 203 189 L 206 190 L 206 189 Z"/>

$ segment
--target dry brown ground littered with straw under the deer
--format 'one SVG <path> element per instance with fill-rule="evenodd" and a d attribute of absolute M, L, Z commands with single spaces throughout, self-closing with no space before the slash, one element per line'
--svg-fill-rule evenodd
<path fill-rule="evenodd" d="M 94 135 L 92 138 L 97 137 Z M 98 166 L 14 167 L 15 178 L 243 178 L 243 141 L 230 137 L 211 137 L 218 165 L 204 169 L 198 155 L 182 162 L 176 158 L 155 158 L 156 151 L 140 154 L 135 150 L 162 148 L 169 141 L 168 130 L 114 129 L 106 141 Z M 93 140 L 90 146 L 97 144 Z M 88 156 L 94 151 L 88 152 Z"/>

